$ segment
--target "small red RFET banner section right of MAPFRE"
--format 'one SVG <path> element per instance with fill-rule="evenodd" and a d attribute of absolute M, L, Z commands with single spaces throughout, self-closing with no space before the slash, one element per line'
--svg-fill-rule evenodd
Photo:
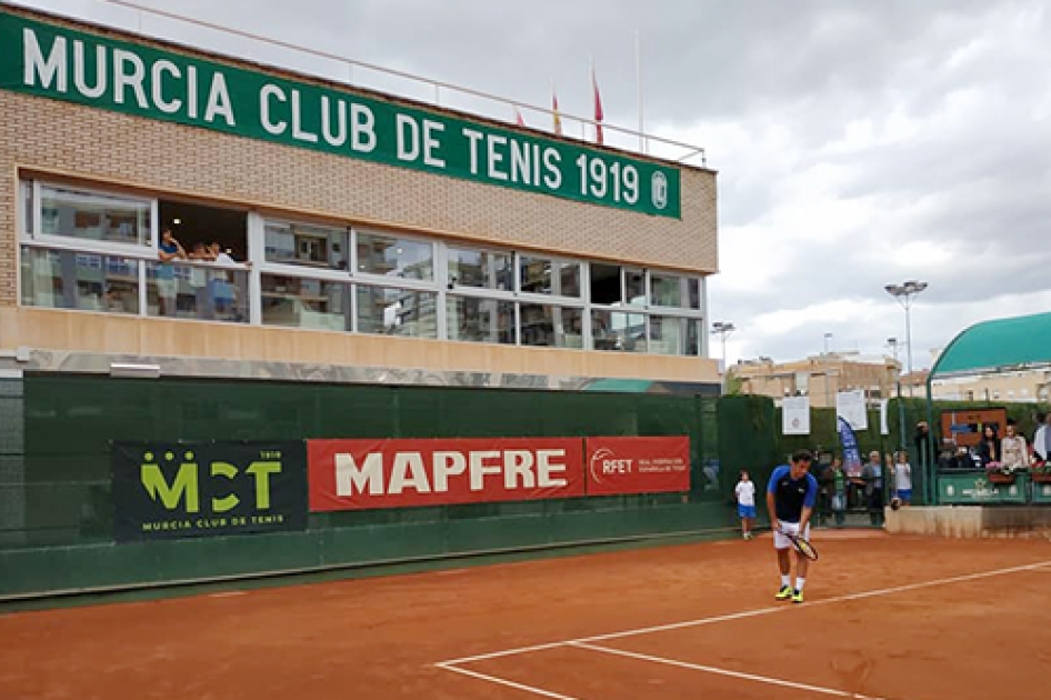
<path fill-rule="evenodd" d="M 588 438 L 588 494 L 690 490 L 690 438 Z"/>

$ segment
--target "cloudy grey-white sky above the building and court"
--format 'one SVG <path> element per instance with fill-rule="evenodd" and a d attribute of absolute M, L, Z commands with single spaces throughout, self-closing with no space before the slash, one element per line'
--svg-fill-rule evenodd
<path fill-rule="evenodd" d="M 1051 308 L 1051 27 L 1039 0 L 139 0 L 703 147 L 719 171 L 712 320 L 731 362 L 889 353 Z M 20 3 L 433 99 L 431 88 L 103 0 Z M 442 103 L 512 119 L 506 106 Z M 528 123 L 549 118 L 524 110 Z M 579 128 L 579 127 L 578 127 Z M 720 343 L 712 342 L 712 356 Z"/>

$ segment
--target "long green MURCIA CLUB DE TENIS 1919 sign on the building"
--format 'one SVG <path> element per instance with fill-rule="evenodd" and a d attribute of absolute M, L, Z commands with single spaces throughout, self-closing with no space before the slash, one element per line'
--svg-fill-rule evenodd
<path fill-rule="evenodd" d="M 0 12 L 0 87 L 640 213 L 681 212 L 678 168 L 10 12 Z"/>

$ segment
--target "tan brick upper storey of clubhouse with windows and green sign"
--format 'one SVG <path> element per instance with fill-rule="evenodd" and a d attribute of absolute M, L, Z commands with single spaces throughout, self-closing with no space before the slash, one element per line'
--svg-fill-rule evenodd
<path fill-rule="evenodd" d="M 0 46 L 9 370 L 718 390 L 710 170 L 23 10 Z"/>

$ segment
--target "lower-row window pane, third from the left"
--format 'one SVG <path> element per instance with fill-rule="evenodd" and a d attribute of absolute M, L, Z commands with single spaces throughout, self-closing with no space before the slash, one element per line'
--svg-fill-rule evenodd
<path fill-rule="evenodd" d="M 350 330 L 350 284 L 284 274 L 261 281 L 263 324 Z"/>

